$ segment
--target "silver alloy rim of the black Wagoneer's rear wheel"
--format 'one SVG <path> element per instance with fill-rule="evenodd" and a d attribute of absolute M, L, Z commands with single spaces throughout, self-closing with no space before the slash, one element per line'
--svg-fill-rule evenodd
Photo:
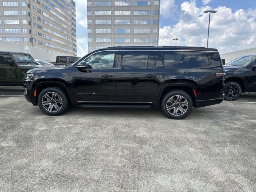
<path fill-rule="evenodd" d="M 170 114 L 179 116 L 188 110 L 188 101 L 181 95 L 175 95 L 168 99 L 166 108 Z"/>

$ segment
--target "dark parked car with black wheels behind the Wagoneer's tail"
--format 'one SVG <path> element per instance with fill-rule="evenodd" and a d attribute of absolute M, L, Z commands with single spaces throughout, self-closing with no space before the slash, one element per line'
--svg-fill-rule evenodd
<path fill-rule="evenodd" d="M 234 101 L 245 92 L 256 92 L 256 55 L 241 56 L 224 66 L 225 100 Z"/>

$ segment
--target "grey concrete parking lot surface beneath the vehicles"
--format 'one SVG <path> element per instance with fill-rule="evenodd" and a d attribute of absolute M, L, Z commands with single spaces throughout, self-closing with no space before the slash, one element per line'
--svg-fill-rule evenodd
<path fill-rule="evenodd" d="M 256 94 L 183 120 L 146 108 L 47 116 L 19 95 L 0 87 L 0 192 L 256 191 Z"/>

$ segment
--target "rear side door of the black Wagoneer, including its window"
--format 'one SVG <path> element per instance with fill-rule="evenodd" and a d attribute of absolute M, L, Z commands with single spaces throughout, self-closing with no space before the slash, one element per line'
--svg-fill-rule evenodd
<path fill-rule="evenodd" d="M 158 81 L 158 51 L 122 51 L 116 72 L 118 102 L 156 102 Z"/>

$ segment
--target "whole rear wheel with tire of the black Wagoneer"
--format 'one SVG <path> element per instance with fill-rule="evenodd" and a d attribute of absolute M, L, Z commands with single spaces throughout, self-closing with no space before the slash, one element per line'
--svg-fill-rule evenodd
<path fill-rule="evenodd" d="M 179 98 L 181 99 L 179 100 L 177 96 L 179 96 Z M 177 100 L 179 100 L 180 102 L 176 102 Z M 180 105 L 180 103 L 182 103 L 183 105 Z M 161 108 L 168 118 L 183 119 L 188 116 L 192 111 L 193 101 L 189 94 L 187 94 L 186 92 L 182 90 L 173 90 L 168 92 L 164 96 L 161 102 Z"/>

